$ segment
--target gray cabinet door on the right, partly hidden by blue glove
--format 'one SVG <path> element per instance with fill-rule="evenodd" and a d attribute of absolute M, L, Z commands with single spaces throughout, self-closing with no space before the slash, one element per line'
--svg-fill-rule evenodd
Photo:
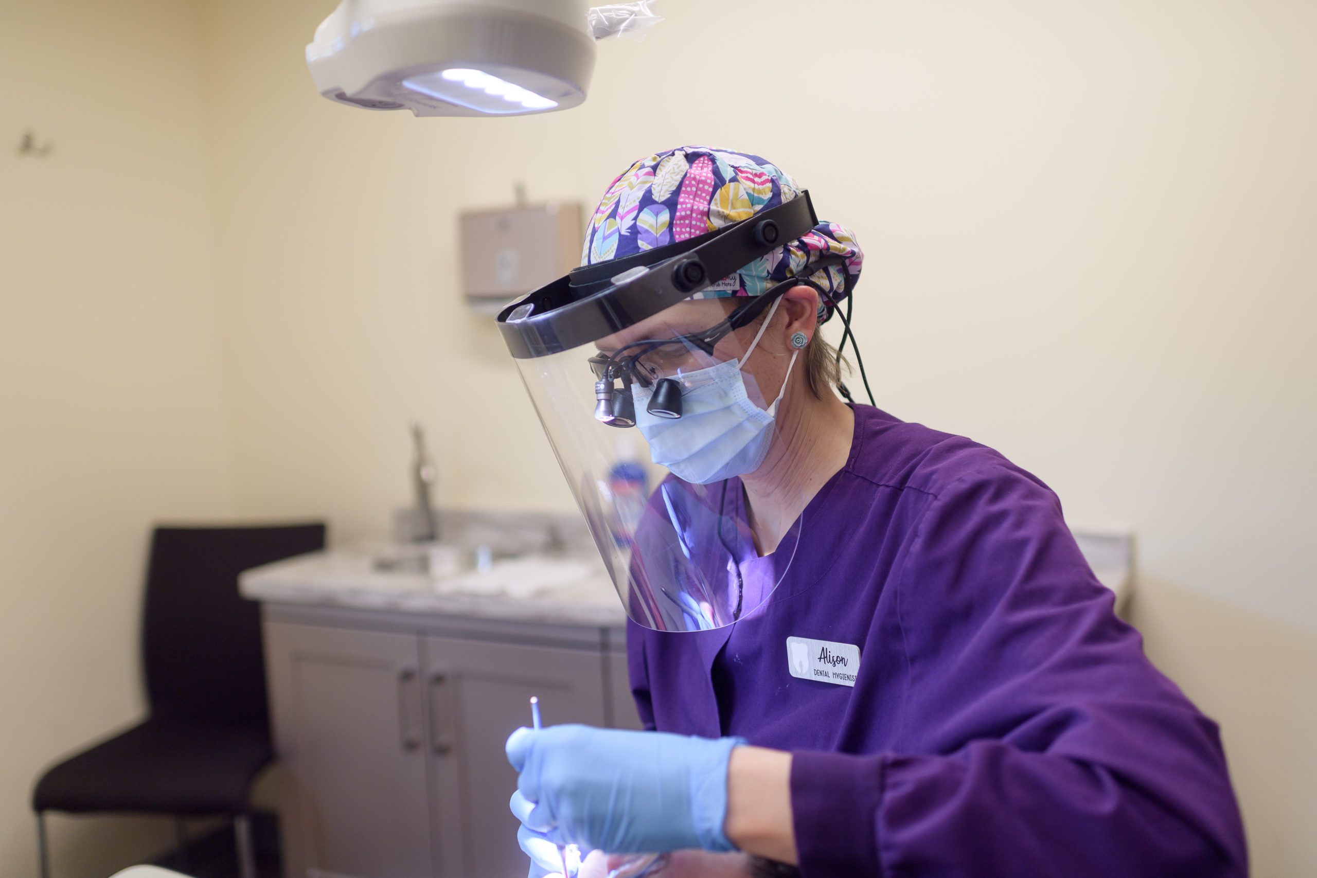
<path fill-rule="evenodd" d="M 547 725 L 603 725 L 603 657 L 446 637 L 427 637 L 424 649 L 439 874 L 520 875 L 529 862 L 507 808 L 516 771 L 503 744 L 531 724 L 532 695 Z"/>

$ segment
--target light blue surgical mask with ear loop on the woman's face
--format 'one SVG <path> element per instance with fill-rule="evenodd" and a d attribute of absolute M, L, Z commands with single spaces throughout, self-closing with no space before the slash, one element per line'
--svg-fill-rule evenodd
<path fill-rule="evenodd" d="M 786 394 L 786 380 L 799 351 L 792 353 L 782 390 L 766 411 L 747 395 L 740 363 L 749 359 L 774 311 L 777 301 L 741 359 L 728 359 L 709 369 L 685 373 L 677 379 L 685 386 L 681 417 L 651 415 L 647 407 L 653 388 L 631 386 L 636 426 L 649 442 L 649 457 L 655 463 L 668 467 L 673 475 L 686 482 L 710 484 L 753 473 L 764 462 L 773 440 L 770 428 L 777 404 Z"/>

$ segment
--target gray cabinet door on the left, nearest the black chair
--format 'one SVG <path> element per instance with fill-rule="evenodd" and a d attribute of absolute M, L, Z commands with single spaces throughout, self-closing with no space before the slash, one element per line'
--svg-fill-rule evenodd
<path fill-rule="evenodd" d="M 420 638 L 266 623 L 288 878 L 432 878 Z"/>

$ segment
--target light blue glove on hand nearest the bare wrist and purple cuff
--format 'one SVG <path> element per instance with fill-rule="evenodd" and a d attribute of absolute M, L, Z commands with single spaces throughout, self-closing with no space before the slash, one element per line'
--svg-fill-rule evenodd
<path fill-rule="evenodd" d="M 507 738 L 507 760 L 520 773 L 512 813 L 529 832 L 518 840 L 528 853 L 531 837 L 582 852 L 735 850 L 723 820 L 727 761 L 740 744 L 589 725 L 519 728 Z"/>

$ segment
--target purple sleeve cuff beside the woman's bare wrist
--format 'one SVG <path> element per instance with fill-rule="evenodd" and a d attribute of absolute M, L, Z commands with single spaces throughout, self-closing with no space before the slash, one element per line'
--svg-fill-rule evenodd
<path fill-rule="evenodd" d="M 792 754 L 792 823 L 801 874 L 878 875 L 878 806 L 886 761 L 818 750 Z"/>

